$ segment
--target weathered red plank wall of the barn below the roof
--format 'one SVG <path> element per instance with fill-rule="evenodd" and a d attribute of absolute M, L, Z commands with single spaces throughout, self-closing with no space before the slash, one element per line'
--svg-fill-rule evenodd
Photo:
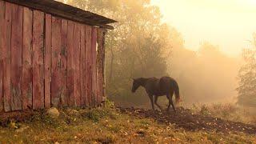
<path fill-rule="evenodd" d="M 105 30 L 0 0 L 0 111 L 98 106 Z"/>

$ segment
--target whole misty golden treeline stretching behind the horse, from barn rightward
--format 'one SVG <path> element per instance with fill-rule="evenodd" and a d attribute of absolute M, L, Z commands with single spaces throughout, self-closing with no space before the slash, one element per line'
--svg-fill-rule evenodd
<path fill-rule="evenodd" d="M 186 103 L 236 100 L 238 58 L 227 57 L 209 42 L 197 52 L 187 50 L 182 35 L 161 22 L 160 10 L 150 0 L 65 2 L 118 21 L 106 38 L 106 93 L 114 102 L 147 105 L 142 89 L 130 92 L 131 79 L 165 75 L 178 80 Z"/>

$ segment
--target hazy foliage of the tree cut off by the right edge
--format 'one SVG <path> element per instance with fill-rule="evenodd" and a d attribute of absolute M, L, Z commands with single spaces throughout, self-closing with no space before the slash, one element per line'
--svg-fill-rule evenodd
<path fill-rule="evenodd" d="M 238 74 L 239 86 L 238 104 L 256 107 L 256 34 L 254 34 L 254 48 L 243 50 L 246 62 Z"/>

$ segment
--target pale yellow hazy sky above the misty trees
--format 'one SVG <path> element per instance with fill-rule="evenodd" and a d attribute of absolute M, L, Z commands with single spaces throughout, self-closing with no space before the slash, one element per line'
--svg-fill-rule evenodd
<path fill-rule="evenodd" d="M 198 50 L 212 42 L 230 56 L 238 56 L 256 32 L 256 0 L 151 0 L 163 21 L 174 26 L 186 47 Z"/>

